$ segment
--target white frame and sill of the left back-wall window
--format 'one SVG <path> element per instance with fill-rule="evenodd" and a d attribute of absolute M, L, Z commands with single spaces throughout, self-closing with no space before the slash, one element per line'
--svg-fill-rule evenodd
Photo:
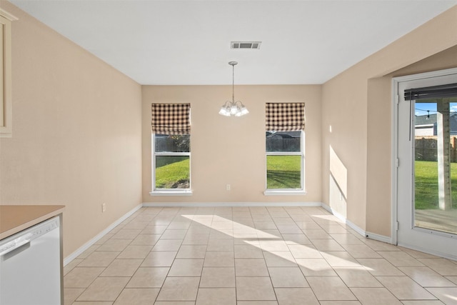
<path fill-rule="evenodd" d="M 190 134 L 189 134 L 190 136 Z M 151 196 L 191 196 L 192 194 L 192 172 L 191 172 L 191 151 L 173 152 L 156 151 L 156 134 L 151 134 Z M 189 189 L 157 189 L 156 188 L 156 156 L 189 156 Z"/>

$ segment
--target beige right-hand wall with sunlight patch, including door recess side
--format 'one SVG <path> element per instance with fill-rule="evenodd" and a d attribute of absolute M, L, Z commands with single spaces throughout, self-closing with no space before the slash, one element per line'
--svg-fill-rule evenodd
<path fill-rule="evenodd" d="M 456 33 L 454 6 L 323 84 L 323 202 L 361 229 L 391 235 L 391 84 L 382 76 L 456 46 Z M 443 66 L 420 62 L 408 72 Z M 332 196 L 331 149 L 347 170 L 345 205 Z"/>

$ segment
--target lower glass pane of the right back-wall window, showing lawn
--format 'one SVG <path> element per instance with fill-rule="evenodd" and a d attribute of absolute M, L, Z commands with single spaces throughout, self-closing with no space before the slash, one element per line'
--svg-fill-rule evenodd
<path fill-rule="evenodd" d="M 267 189 L 301 189 L 301 156 L 266 156 Z"/>

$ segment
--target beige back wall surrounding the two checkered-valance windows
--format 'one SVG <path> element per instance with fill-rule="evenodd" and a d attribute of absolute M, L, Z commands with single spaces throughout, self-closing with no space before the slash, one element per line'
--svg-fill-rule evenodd
<path fill-rule="evenodd" d="M 236 99 L 250 111 L 219 115 L 231 86 L 143 86 L 144 202 L 321 202 L 321 86 L 236 86 Z M 306 103 L 308 193 L 264 196 L 265 103 Z M 191 103 L 192 196 L 153 196 L 151 191 L 151 103 Z M 231 191 L 226 191 L 231 184 Z"/>

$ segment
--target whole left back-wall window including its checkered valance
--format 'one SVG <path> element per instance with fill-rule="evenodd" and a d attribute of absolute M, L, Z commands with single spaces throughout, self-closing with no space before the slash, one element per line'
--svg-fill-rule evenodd
<path fill-rule="evenodd" d="M 151 195 L 191 194 L 190 104 L 152 104 Z"/>

